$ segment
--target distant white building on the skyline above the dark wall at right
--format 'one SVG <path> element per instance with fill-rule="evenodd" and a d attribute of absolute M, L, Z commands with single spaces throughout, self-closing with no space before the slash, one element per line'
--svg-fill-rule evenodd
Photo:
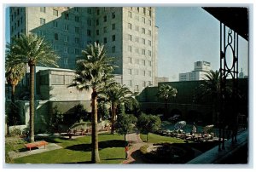
<path fill-rule="evenodd" d="M 207 61 L 196 61 L 194 71 L 179 73 L 179 81 L 198 81 L 205 78 L 206 72 L 212 69 L 211 63 Z"/>

